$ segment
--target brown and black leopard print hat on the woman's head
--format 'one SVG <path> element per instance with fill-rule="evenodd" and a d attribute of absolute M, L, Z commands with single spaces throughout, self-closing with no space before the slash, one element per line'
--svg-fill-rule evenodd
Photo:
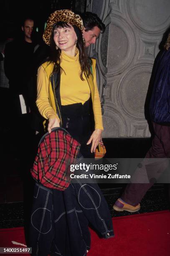
<path fill-rule="evenodd" d="M 46 44 L 50 45 L 50 38 L 53 31 L 53 25 L 58 21 L 67 22 L 71 25 L 77 26 L 83 36 L 83 20 L 78 14 L 73 13 L 71 10 L 57 10 L 54 13 L 51 13 L 47 20 L 47 26 L 43 33 L 43 40 Z M 83 36 L 83 41 L 85 44 L 85 39 Z"/>

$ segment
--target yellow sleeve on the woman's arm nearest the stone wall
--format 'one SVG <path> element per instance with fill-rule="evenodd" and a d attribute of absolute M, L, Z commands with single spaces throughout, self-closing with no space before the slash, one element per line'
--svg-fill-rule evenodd
<path fill-rule="evenodd" d="M 101 114 L 101 102 L 99 97 L 99 90 L 97 87 L 96 81 L 96 60 L 93 61 L 93 81 L 94 81 L 94 121 L 95 121 L 95 129 L 103 130 L 103 121 L 102 121 L 102 114 Z"/>

